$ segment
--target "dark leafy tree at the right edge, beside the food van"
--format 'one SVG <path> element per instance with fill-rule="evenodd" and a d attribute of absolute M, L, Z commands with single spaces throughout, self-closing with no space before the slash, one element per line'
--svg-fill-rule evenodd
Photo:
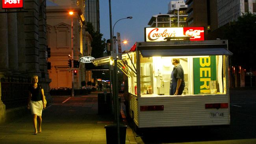
<path fill-rule="evenodd" d="M 224 28 L 224 39 L 228 39 L 228 49 L 233 53 L 231 66 L 256 69 L 256 15 L 246 13 Z"/>

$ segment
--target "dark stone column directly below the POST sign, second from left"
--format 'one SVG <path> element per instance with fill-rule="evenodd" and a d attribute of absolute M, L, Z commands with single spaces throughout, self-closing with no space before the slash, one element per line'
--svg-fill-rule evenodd
<path fill-rule="evenodd" d="M 8 55 L 9 69 L 11 72 L 18 72 L 18 32 L 17 32 L 17 13 L 8 13 Z"/>

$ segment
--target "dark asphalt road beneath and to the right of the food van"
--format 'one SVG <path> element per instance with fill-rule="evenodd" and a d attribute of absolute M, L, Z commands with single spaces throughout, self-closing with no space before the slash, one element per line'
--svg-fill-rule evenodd
<path fill-rule="evenodd" d="M 137 135 L 145 144 L 256 144 L 256 89 L 230 90 L 230 126 L 165 128 Z"/>

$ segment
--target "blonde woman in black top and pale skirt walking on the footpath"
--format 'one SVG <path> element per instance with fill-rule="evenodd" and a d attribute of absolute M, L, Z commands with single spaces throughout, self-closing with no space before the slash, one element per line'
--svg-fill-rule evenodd
<path fill-rule="evenodd" d="M 33 115 L 33 126 L 35 128 L 35 135 L 37 135 L 37 118 L 39 133 L 42 132 L 42 111 L 46 107 L 44 103 L 44 90 L 41 85 L 38 85 L 38 76 L 33 76 L 32 86 L 28 89 L 28 109 L 31 109 Z"/>

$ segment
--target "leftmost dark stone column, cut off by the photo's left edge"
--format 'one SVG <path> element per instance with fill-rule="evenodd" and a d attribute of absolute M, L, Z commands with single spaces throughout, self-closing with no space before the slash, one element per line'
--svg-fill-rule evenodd
<path fill-rule="evenodd" d="M 4 11 L 0 9 L 0 11 Z M 9 68 L 8 58 L 8 23 L 7 13 L 0 13 L 0 69 L 7 70 Z"/>

